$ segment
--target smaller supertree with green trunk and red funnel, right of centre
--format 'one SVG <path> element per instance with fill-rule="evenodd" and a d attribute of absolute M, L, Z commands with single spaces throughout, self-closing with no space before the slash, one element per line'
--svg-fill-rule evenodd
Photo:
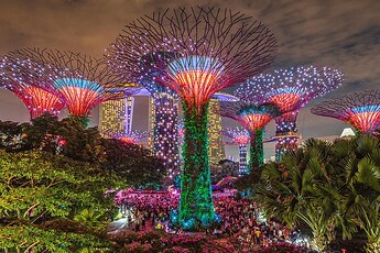
<path fill-rule="evenodd" d="M 263 132 L 264 127 L 283 112 L 274 103 L 260 103 L 258 97 L 251 97 L 250 100 L 242 100 L 242 97 L 237 102 L 222 102 L 220 105 L 220 114 L 231 118 L 240 122 L 249 132 L 249 169 L 261 167 L 264 165 L 263 152 Z"/>

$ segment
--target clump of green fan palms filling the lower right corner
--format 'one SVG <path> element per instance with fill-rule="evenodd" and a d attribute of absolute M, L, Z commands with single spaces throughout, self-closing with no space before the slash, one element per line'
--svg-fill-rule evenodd
<path fill-rule="evenodd" d="M 259 201 L 289 226 L 306 223 L 326 250 L 339 227 L 344 238 L 365 231 L 368 252 L 380 243 L 380 143 L 361 135 L 333 144 L 307 140 L 261 174 Z"/>

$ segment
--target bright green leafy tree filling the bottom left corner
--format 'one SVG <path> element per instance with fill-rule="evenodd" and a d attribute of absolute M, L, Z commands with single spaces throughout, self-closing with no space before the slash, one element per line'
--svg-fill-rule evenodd
<path fill-rule="evenodd" d="M 107 221 L 115 208 L 105 191 L 122 186 L 122 178 L 42 151 L 0 150 L 0 157 L 1 249 L 73 252 L 110 246 L 104 226 L 73 219 L 90 209 Z"/>

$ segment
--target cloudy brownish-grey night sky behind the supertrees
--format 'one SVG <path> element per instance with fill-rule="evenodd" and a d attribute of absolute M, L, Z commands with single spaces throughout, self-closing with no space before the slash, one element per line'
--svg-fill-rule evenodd
<path fill-rule="evenodd" d="M 347 127 L 311 114 L 310 106 L 325 98 L 380 88 L 379 0 L 0 0 L 0 54 L 21 47 L 50 47 L 100 57 L 126 23 L 153 11 L 197 4 L 241 11 L 268 26 L 279 46 L 271 69 L 315 65 L 344 72 L 341 88 L 301 110 L 298 133 L 304 139 L 339 135 Z M 148 99 L 137 99 L 135 108 L 133 128 L 146 130 Z M 97 124 L 97 108 L 93 117 Z M 29 120 L 21 100 L 4 89 L 0 89 L 0 120 Z M 238 125 L 225 119 L 222 123 Z M 271 122 L 267 136 L 273 133 Z M 272 148 L 265 148 L 265 156 L 272 155 Z M 228 150 L 228 154 L 236 154 L 237 148 Z"/>

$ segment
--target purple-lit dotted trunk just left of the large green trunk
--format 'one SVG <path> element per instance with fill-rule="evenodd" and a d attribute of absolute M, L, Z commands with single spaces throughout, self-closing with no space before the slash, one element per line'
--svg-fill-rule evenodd
<path fill-rule="evenodd" d="M 175 99 L 164 95 L 164 97 L 154 98 L 154 106 L 153 155 L 163 160 L 170 178 L 175 179 L 181 174 L 178 166 L 178 103 Z"/>

